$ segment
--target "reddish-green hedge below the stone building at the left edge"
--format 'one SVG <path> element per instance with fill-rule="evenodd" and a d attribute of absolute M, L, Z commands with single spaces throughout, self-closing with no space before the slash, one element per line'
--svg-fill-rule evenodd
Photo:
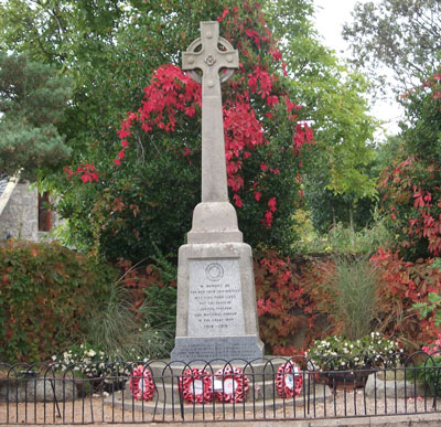
<path fill-rule="evenodd" d="M 0 360 L 42 361 L 86 333 L 115 270 L 56 244 L 0 245 Z"/>

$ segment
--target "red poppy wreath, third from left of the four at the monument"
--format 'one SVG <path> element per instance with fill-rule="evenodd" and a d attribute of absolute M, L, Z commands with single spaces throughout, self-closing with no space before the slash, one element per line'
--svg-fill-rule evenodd
<path fill-rule="evenodd" d="M 247 398 L 249 380 L 239 367 L 225 366 L 218 370 L 214 381 L 217 401 L 240 403 Z"/>

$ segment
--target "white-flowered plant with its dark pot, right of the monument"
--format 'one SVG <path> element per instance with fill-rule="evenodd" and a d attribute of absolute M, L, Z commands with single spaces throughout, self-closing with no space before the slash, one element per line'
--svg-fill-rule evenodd
<path fill-rule="evenodd" d="M 396 365 L 402 349 L 380 332 L 357 340 L 330 335 L 315 340 L 306 352 L 310 366 L 318 370 L 332 388 L 342 385 L 363 387 L 375 369 Z"/>

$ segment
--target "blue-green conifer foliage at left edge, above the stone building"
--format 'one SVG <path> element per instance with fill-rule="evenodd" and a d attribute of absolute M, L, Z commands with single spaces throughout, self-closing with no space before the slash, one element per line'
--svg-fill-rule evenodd
<path fill-rule="evenodd" d="M 69 157 L 55 127 L 69 96 L 68 81 L 52 67 L 0 52 L 0 173 L 33 181 Z"/>

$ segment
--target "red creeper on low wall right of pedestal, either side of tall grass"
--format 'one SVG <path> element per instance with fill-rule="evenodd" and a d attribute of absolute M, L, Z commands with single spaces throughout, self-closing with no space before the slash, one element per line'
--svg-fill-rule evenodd
<path fill-rule="evenodd" d="M 429 292 L 441 290 L 441 273 L 430 268 L 432 263 L 433 259 L 405 261 L 397 253 L 383 248 L 370 258 L 383 278 L 378 319 L 373 328 L 399 340 L 409 351 L 418 350 L 439 332 L 434 313 L 420 320 L 419 311 L 412 309 L 415 302 L 427 301 Z M 257 310 L 260 335 L 268 351 L 298 354 L 312 340 L 342 332 L 342 324 L 326 311 L 330 296 L 319 287 L 333 271 L 334 263 L 327 258 L 293 261 L 276 252 L 258 254 L 255 261 Z"/>

